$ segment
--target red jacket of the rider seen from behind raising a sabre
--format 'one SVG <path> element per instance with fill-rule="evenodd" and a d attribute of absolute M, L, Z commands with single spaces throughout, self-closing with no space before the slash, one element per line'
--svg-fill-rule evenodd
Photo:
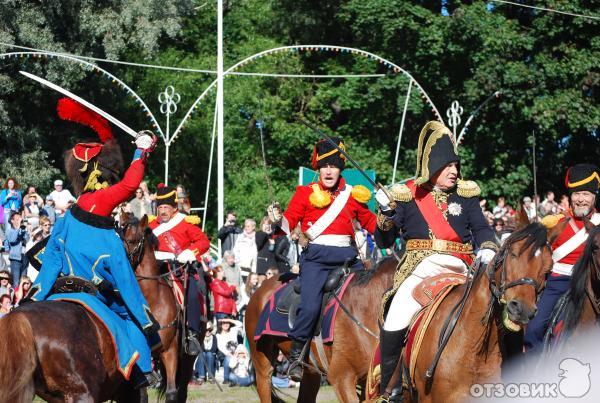
<path fill-rule="evenodd" d="M 121 182 L 106 189 L 82 194 L 77 199 L 77 205 L 89 213 L 110 217 L 115 207 L 133 198 L 135 190 L 144 178 L 145 168 L 145 158 L 133 161 L 125 171 Z"/>

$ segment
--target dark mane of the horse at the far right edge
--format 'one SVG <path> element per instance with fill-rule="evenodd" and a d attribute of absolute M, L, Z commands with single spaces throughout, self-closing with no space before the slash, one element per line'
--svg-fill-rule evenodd
<path fill-rule="evenodd" d="M 583 301 L 586 299 L 587 280 L 590 274 L 589 266 L 594 255 L 594 240 L 598 234 L 600 234 L 600 227 L 592 228 L 585 244 L 583 255 L 581 255 L 573 267 L 571 286 L 564 311 L 565 319 L 562 332 L 565 336 L 568 336 L 575 329 L 583 311 Z"/>

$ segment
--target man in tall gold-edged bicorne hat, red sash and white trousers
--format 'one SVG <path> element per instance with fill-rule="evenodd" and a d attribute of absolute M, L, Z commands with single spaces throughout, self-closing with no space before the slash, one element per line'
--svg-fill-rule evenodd
<path fill-rule="evenodd" d="M 415 177 L 390 189 L 394 200 L 381 189 L 375 195 L 380 209 L 377 245 L 391 247 L 398 233 L 406 241 L 394 287 L 383 300 L 389 309 L 380 335 L 382 400 L 393 400 L 391 395 L 397 393 L 390 379 L 410 321 L 421 308 L 412 297 L 413 289 L 438 274 L 466 274 L 476 246 L 483 263 L 489 263 L 498 249 L 479 207 L 479 186 L 460 179 L 456 143 L 442 123 L 432 121 L 421 130 Z"/>

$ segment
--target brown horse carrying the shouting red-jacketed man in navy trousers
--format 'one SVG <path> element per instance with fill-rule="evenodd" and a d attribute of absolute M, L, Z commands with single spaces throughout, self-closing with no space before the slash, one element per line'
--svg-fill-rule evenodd
<path fill-rule="evenodd" d="M 384 260 L 374 270 L 359 272 L 350 282 L 342 297 L 342 303 L 350 314 L 366 329 L 379 334 L 377 318 L 381 307 L 381 297 L 393 284 L 394 273 L 398 261 L 394 258 Z M 260 313 L 269 297 L 281 285 L 277 278 L 262 283 L 261 287 L 250 298 L 246 310 L 246 337 L 250 343 L 250 353 L 256 384 L 261 402 L 280 401 L 271 384 L 273 362 L 281 350 L 288 355 L 291 342 L 284 337 L 262 336 L 254 341 L 254 332 Z M 334 324 L 335 338 L 331 344 L 325 345 L 325 354 L 329 362 L 327 380 L 335 389 L 342 402 L 358 402 L 356 386 L 362 386 L 362 394 L 366 390 L 366 378 L 369 363 L 377 345 L 377 338 L 360 328 L 345 313 L 336 316 Z M 311 345 L 315 357 L 318 357 L 315 343 Z M 319 371 L 325 373 L 324 365 L 319 361 Z M 300 391 L 299 402 L 313 402 L 321 384 L 321 374 L 314 368 L 306 367 Z"/>

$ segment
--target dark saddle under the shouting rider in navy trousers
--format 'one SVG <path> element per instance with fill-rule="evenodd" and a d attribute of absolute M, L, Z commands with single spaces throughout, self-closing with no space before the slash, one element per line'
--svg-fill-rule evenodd
<path fill-rule="evenodd" d="M 344 280 L 350 274 L 350 270 L 347 267 L 338 267 L 337 269 L 332 270 L 327 276 L 327 280 L 325 280 L 325 284 L 323 285 L 323 301 L 321 303 L 321 307 L 325 307 L 327 302 L 333 298 L 335 294 L 337 294 L 342 286 L 344 285 Z M 284 277 L 285 276 L 285 277 Z M 279 277 L 280 281 L 286 281 L 290 279 L 290 273 L 282 274 Z M 284 287 L 281 291 L 281 297 L 276 303 L 275 309 L 277 312 L 288 315 L 288 325 L 290 329 L 294 327 L 294 322 L 296 321 L 296 313 L 298 310 L 298 306 L 300 305 L 300 281 L 297 279 L 297 275 L 294 276 L 291 281 Z M 321 309 L 322 310 L 322 309 Z M 319 327 L 317 327 L 318 329 Z"/>

